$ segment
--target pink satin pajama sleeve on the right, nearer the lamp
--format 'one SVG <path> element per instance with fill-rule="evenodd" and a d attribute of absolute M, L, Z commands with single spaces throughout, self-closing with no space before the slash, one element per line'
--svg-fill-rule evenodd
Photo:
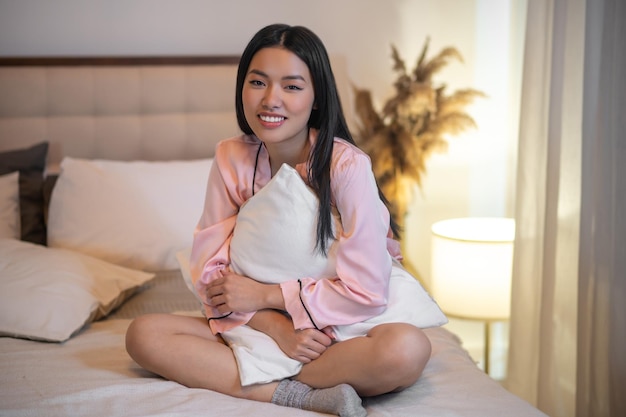
<path fill-rule="evenodd" d="M 379 198 L 369 158 L 344 149 L 334 161 L 331 184 L 343 226 L 337 277 L 281 284 L 297 329 L 356 323 L 380 314 L 387 305 L 389 249 L 394 245 L 389 239 L 389 212 Z"/>

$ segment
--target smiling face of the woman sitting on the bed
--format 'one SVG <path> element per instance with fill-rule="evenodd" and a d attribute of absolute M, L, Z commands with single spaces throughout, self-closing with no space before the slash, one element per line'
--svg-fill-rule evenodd
<path fill-rule="evenodd" d="M 281 47 L 259 50 L 248 67 L 242 102 L 246 121 L 266 146 L 303 146 L 315 94 L 307 65 Z"/>

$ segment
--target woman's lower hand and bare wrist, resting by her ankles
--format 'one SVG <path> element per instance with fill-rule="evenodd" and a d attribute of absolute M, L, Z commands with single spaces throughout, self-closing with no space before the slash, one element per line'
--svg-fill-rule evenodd
<path fill-rule="evenodd" d="M 287 356 L 302 363 L 319 358 L 332 343 L 319 330 L 294 329 L 291 319 L 279 311 L 258 311 L 248 325 L 270 336 Z"/>

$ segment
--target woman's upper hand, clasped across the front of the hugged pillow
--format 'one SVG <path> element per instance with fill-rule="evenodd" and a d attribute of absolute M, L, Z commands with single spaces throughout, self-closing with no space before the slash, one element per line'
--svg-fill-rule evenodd
<path fill-rule="evenodd" d="M 210 304 L 221 314 L 231 311 L 248 313 L 264 308 L 284 309 L 285 302 L 280 286 L 262 284 L 251 278 L 229 270 L 207 286 L 206 295 Z"/>

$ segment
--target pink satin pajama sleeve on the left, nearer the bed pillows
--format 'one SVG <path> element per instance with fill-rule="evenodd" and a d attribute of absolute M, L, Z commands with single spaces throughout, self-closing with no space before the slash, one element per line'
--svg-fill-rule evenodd
<path fill-rule="evenodd" d="M 254 313 L 232 313 L 228 317 L 214 309 L 206 298 L 209 283 L 220 277 L 230 265 L 229 247 L 239 206 L 243 201 L 237 184 L 237 173 L 230 163 L 233 150 L 218 145 L 206 189 L 204 209 L 194 232 L 191 249 L 191 278 L 204 303 L 214 334 L 247 323 Z"/>

